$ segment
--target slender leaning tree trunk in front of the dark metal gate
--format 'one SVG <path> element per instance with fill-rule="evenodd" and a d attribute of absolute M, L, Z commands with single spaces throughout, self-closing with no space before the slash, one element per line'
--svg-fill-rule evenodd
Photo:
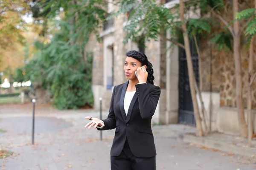
<path fill-rule="evenodd" d="M 191 96 L 192 96 L 192 102 L 193 102 L 193 108 L 194 108 L 194 114 L 195 114 L 197 135 L 203 136 L 201 118 L 200 118 L 200 114 L 199 114 L 198 102 L 197 102 L 196 93 L 195 93 L 195 84 L 194 84 L 195 75 L 194 75 L 192 58 L 191 58 L 190 47 L 189 47 L 189 37 L 187 34 L 186 23 L 183 23 L 184 22 L 183 0 L 180 0 L 180 21 L 182 22 L 183 38 L 184 38 L 184 43 L 185 43 L 186 59 L 187 59 L 188 72 L 189 72 L 189 86 L 190 86 L 190 92 L 191 92 Z"/>

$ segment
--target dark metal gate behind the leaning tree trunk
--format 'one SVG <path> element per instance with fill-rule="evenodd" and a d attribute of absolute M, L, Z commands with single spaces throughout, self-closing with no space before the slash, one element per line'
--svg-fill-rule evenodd
<path fill-rule="evenodd" d="M 190 41 L 190 50 L 195 78 L 199 85 L 198 54 L 195 48 L 194 40 Z M 183 48 L 179 48 L 179 123 L 195 125 L 186 52 Z"/>

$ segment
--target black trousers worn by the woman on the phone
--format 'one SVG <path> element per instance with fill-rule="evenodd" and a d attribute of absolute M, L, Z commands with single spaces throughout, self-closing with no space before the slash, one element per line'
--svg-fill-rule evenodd
<path fill-rule="evenodd" d="M 131 153 L 128 140 L 119 156 L 111 156 L 111 170 L 156 170 L 156 157 L 139 158 Z"/>

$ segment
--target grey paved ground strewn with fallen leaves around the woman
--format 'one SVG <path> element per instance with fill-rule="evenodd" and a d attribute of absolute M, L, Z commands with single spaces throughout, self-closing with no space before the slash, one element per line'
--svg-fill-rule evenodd
<path fill-rule="evenodd" d="M 35 145 L 32 141 L 32 105 L 0 105 L 0 149 L 13 155 L 0 159 L 0 170 L 110 170 L 114 130 L 84 129 L 93 110 L 58 111 L 36 106 Z M 103 112 L 103 117 L 108 113 Z M 157 170 L 253 170 L 256 158 L 183 142 L 195 128 L 186 125 L 152 126 L 157 148 Z M 214 140 L 214 138 L 212 139 Z M 217 139 L 218 140 L 218 139 Z M 232 138 L 233 140 L 233 138 Z"/>

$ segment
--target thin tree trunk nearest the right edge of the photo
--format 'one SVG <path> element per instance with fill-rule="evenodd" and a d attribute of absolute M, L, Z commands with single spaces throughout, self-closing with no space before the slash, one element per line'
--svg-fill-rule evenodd
<path fill-rule="evenodd" d="M 254 38 L 252 37 L 250 42 L 249 49 L 249 78 L 248 78 L 248 99 L 247 99 L 247 123 L 248 123 L 248 146 L 251 147 L 252 136 L 253 136 L 253 122 L 252 122 L 252 92 L 251 92 L 251 84 L 254 80 L 253 76 L 253 46 L 254 46 Z"/>

